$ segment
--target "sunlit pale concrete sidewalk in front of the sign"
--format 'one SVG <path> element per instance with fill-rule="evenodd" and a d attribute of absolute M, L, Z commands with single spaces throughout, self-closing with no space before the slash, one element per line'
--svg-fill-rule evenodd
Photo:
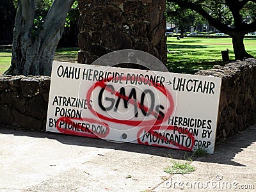
<path fill-rule="evenodd" d="M 256 126 L 169 175 L 191 153 L 0 128 L 0 191 L 255 191 Z M 173 159 L 170 159 L 172 156 Z M 182 161 L 182 160 L 179 160 Z"/>

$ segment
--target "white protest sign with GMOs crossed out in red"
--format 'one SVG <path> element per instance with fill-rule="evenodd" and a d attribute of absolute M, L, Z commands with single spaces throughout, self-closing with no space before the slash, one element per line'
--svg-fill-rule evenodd
<path fill-rule="evenodd" d="M 214 152 L 221 78 L 54 62 L 46 131 Z"/>

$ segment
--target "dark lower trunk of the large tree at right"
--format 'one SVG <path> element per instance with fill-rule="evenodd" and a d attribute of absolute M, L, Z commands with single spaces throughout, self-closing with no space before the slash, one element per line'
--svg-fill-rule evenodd
<path fill-rule="evenodd" d="M 244 34 L 236 33 L 232 36 L 233 49 L 236 60 L 243 61 L 244 58 L 253 58 L 252 55 L 245 51 L 244 47 Z"/>

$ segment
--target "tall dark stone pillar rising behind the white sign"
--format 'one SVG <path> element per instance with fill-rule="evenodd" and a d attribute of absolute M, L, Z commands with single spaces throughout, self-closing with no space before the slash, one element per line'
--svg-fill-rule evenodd
<path fill-rule="evenodd" d="M 120 49 L 148 52 L 166 63 L 165 0 L 79 0 L 78 63 Z"/>

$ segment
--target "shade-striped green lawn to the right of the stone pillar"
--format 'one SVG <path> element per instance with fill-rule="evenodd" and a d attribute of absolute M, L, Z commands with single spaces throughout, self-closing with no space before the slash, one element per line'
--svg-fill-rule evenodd
<path fill-rule="evenodd" d="M 244 38 L 246 51 L 256 56 L 256 38 Z M 235 60 L 232 38 L 167 38 L 167 67 L 171 72 L 195 74 L 198 70 L 224 65 L 221 51 Z"/>

